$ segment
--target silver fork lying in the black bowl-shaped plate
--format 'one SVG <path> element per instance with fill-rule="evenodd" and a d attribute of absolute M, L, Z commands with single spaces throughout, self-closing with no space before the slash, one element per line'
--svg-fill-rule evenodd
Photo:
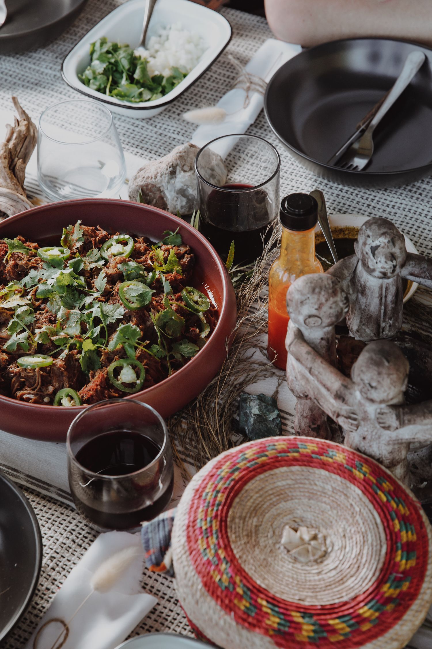
<path fill-rule="evenodd" d="M 374 130 L 380 123 L 381 119 L 390 110 L 396 99 L 402 95 L 411 79 L 415 77 L 420 67 L 422 67 L 425 58 L 426 55 L 420 50 L 409 53 L 405 60 L 404 67 L 402 68 L 402 72 L 398 79 L 396 79 L 396 82 L 387 95 L 387 98 L 383 101 L 380 110 L 378 110 L 376 116 L 372 119 L 369 127 L 367 127 L 361 138 L 350 146 L 347 153 L 345 153 L 343 158 L 341 158 L 339 164 L 336 165 L 337 167 L 348 169 L 349 171 L 361 171 L 361 169 L 365 168 L 374 153 Z"/>

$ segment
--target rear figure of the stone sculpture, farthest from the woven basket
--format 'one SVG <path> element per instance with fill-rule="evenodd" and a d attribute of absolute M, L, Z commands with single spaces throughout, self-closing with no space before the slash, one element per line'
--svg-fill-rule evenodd
<path fill-rule="evenodd" d="M 402 326 L 402 280 L 432 288 L 432 260 L 407 252 L 404 235 L 387 219 L 366 221 L 354 250 L 327 271 L 348 295 L 350 334 L 365 342 L 396 336 Z"/>

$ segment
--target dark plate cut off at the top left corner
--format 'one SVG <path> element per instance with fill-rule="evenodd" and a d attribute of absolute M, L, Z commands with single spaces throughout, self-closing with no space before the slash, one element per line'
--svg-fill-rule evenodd
<path fill-rule="evenodd" d="M 6 0 L 8 16 L 0 27 L 0 54 L 41 47 L 62 34 L 87 0 Z"/>

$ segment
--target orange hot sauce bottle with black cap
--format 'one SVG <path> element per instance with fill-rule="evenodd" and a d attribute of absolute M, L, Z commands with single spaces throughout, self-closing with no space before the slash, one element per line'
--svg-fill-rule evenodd
<path fill-rule="evenodd" d="M 269 272 L 269 323 L 267 354 L 273 365 L 286 368 L 285 337 L 290 316 L 286 291 L 301 275 L 323 273 L 315 257 L 317 201 L 309 194 L 290 194 L 280 204 L 282 241 L 279 258 Z"/>

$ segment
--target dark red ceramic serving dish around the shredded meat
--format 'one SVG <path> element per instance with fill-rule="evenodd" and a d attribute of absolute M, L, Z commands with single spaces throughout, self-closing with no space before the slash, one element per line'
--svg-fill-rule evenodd
<path fill-rule="evenodd" d="M 160 241 L 165 230 L 179 228 L 183 241 L 196 254 L 192 285 L 214 301 L 219 311 L 218 324 L 206 345 L 184 367 L 133 395 L 168 417 L 209 384 L 226 358 L 227 341 L 236 324 L 236 300 L 225 266 L 209 241 L 182 219 L 155 207 L 115 199 L 65 201 L 27 210 L 0 222 L 0 239 L 21 234 L 29 241 L 58 244 L 62 228 L 78 219 L 84 225 L 100 225 L 108 232 L 130 232 L 154 241 Z M 0 395 L 0 428 L 23 437 L 64 441 L 69 424 L 83 408 L 27 404 Z"/>

